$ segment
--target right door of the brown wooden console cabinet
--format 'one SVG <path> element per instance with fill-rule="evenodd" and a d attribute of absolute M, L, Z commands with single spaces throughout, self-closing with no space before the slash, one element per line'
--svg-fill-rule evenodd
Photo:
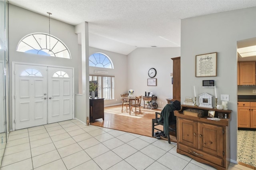
<path fill-rule="evenodd" d="M 223 157 L 223 133 L 222 127 L 198 123 L 198 148 L 204 152 Z"/>

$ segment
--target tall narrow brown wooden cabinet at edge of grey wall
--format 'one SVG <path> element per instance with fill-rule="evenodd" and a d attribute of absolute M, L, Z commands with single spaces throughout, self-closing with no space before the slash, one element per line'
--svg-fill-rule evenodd
<path fill-rule="evenodd" d="M 173 60 L 172 100 L 180 101 L 180 57 L 172 58 L 172 60 Z"/>

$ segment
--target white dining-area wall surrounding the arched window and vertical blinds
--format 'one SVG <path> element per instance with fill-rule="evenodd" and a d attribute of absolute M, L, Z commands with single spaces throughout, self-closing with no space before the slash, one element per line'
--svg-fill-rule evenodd
<path fill-rule="evenodd" d="M 100 67 L 90 67 L 89 72 L 90 75 L 100 75 L 100 74 L 95 74 L 94 70 L 100 70 L 100 71 L 108 71 L 109 76 L 115 76 L 115 99 L 113 100 L 105 100 L 104 105 L 105 106 L 110 106 L 110 105 L 116 105 L 116 104 L 121 104 L 122 101 L 120 99 L 120 95 L 127 93 L 126 89 L 127 87 L 127 55 L 119 54 L 119 53 L 114 53 L 111 51 L 106 51 L 103 49 L 97 49 L 93 47 L 89 47 L 89 56 L 92 55 L 93 53 L 104 53 L 113 62 L 114 69 L 107 69 L 107 68 L 100 68 Z"/>

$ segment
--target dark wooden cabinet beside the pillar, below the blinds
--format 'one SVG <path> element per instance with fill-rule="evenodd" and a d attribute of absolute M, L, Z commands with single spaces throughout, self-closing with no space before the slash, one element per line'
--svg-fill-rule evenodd
<path fill-rule="evenodd" d="M 90 99 L 90 122 L 100 118 L 104 121 L 104 99 Z"/>

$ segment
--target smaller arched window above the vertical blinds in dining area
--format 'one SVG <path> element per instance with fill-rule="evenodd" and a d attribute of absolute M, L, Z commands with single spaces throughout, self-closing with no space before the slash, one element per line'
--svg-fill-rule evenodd
<path fill-rule="evenodd" d="M 90 55 L 89 66 L 114 69 L 110 57 L 102 53 L 94 53 Z"/>

